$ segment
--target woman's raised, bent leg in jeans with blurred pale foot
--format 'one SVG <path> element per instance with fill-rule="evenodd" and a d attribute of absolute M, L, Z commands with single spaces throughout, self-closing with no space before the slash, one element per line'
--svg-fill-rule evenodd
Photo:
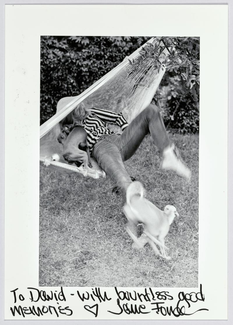
<path fill-rule="evenodd" d="M 171 144 L 160 111 L 156 105 L 150 104 L 143 110 L 118 138 L 117 146 L 122 160 L 129 159 L 138 149 L 146 134 L 150 133 L 154 144 L 163 155 L 161 168 L 173 170 L 178 175 L 190 178 L 190 170 L 176 157 L 174 145 Z"/>

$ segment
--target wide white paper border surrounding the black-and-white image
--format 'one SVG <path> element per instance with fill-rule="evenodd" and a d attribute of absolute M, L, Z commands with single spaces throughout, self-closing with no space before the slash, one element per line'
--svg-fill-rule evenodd
<path fill-rule="evenodd" d="M 200 36 L 199 288 L 156 288 L 154 291 L 169 291 L 174 306 L 179 292 L 197 293 L 202 284 L 205 300 L 191 303 L 190 310 L 186 303 L 185 310 L 187 313 L 201 308 L 208 311 L 178 319 L 227 319 L 227 15 L 227 5 L 6 6 L 5 319 L 23 319 L 17 314 L 13 317 L 10 307 L 32 305 L 27 287 L 60 291 L 59 287 L 38 287 L 41 35 Z M 16 288 L 14 304 L 10 291 Z M 79 288 L 63 290 L 65 304 L 53 300 L 35 305 L 69 306 L 73 314 L 60 313 L 57 317 L 47 313 L 43 319 L 177 319 L 155 312 L 111 314 L 108 310 L 119 311 L 114 288 L 100 289 L 112 299 L 99 303 L 95 318 L 83 308 L 94 305 L 93 300 L 82 302 L 70 295 Z M 122 290 L 143 292 L 143 288 Z M 80 292 L 85 291 L 92 293 L 92 288 L 80 288 Z M 19 302 L 19 294 L 25 300 Z M 134 301 L 122 303 L 135 304 Z M 24 319 L 42 317 L 26 315 Z"/>

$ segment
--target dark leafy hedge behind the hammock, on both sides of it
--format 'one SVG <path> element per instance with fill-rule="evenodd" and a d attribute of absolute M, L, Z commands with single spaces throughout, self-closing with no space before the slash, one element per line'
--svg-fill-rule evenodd
<path fill-rule="evenodd" d="M 41 37 L 41 123 L 58 100 L 76 96 L 112 70 L 150 37 Z M 166 73 L 154 101 L 165 124 L 182 133 L 199 130 L 199 43 L 196 38 L 160 38 L 171 49 L 158 68 Z M 172 47 L 171 47 L 172 46 Z M 146 55 L 155 56 L 149 48 Z"/>

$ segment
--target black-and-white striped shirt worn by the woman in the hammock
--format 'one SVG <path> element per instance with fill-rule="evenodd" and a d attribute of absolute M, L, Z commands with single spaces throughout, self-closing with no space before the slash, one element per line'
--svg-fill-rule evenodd
<path fill-rule="evenodd" d="M 87 142 L 90 151 L 92 151 L 93 144 L 100 138 L 100 136 L 114 133 L 107 128 L 105 122 L 119 125 L 122 131 L 129 125 L 122 113 L 114 113 L 109 110 L 92 108 L 90 115 L 82 120 L 81 123 L 81 126 L 83 126 L 87 132 Z"/>

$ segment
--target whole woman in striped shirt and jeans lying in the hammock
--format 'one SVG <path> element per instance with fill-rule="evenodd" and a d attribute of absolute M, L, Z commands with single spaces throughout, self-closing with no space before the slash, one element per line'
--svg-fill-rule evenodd
<path fill-rule="evenodd" d="M 90 152 L 123 196 L 132 182 L 123 162 L 135 153 L 149 132 L 162 154 L 161 168 L 190 179 L 191 172 L 176 156 L 175 146 L 170 142 L 160 112 L 154 104 L 150 104 L 128 125 L 122 113 L 87 109 L 81 103 L 61 121 L 61 126 L 72 126 L 73 123 L 84 127 Z M 114 134 L 105 123 L 119 125 L 123 133 Z"/>

